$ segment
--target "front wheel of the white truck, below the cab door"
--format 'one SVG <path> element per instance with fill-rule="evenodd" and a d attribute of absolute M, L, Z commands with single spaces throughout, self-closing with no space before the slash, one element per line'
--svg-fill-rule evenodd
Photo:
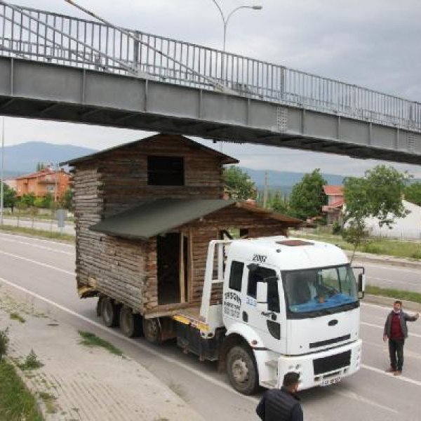
<path fill-rule="evenodd" d="M 249 349 L 237 345 L 229 349 L 227 355 L 229 382 L 237 392 L 253 394 L 259 387 L 258 369 Z"/>

